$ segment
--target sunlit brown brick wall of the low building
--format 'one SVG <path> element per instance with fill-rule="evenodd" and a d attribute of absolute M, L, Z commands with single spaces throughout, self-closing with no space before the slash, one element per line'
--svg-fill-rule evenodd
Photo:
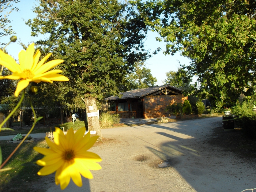
<path fill-rule="evenodd" d="M 166 106 L 174 103 L 184 102 L 187 97 L 184 95 L 154 95 L 154 96 L 145 96 L 144 97 L 144 106 L 145 106 L 145 118 L 156 118 L 160 115 L 166 117 L 170 116 L 169 112 L 166 112 Z"/>

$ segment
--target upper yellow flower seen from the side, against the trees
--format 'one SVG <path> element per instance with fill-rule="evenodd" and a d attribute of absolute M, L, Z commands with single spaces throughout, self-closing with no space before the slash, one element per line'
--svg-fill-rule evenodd
<path fill-rule="evenodd" d="M 20 91 L 25 89 L 29 82 L 49 82 L 52 81 L 68 81 L 69 79 L 64 75 L 60 75 L 62 71 L 55 69 L 48 71 L 53 67 L 63 63 L 63 60 L 56 59 L 45 63 L 45 61 L 52 55 L 52 53 L 47 54 L 41 61 L 39 57 L 41 53 L 39 50 L 34 54 L 34 44 L 29 45 L 27 50 L 21 50 L 19 52 L 19 64 L 8 54 L 0 50 L 0 64 L 8 68 L 12 75 L 0 76 L 0 79 L 21 79 L 18 84 L 14 95 L 18 97 Z M 45 64 L 44 64 L 45 63 Z"/>

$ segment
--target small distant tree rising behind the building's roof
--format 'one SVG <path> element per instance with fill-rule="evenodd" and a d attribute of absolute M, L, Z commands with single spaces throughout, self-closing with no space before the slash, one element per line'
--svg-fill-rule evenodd
<path fill-rule="evenodd" d="M 127 90 L 154 87 L 157 78 L 151 75 L 151 69 L 144 67 L 144 63 L 137 62 L 134 72 L 128 75 Z"/>

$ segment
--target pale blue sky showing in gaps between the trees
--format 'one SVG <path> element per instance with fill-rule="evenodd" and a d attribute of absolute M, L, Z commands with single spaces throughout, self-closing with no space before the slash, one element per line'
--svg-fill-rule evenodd
<path fill-rule="evenodd" d="M 31 29 L 25 25 L 25 21 L 33 19 L 36 16 L 32 11 L 35 3 L 37 3 L 35 0 L 21 0 L 19 3 L 14 4 L 14 6 L 17 6 L 20 11 L 12 12 L 10 16 L 8 16 L 8 19 L 12 20 L 10 25 L 16 32 L 15 35 L 18 37 L 18 41 L 21 40 L 25 45 L 29 45 L 31 42 L 37 41 L 38 39 L 44 39 L 46 37 L 44 35 L 31 37 Z M 151 31 L 148 32 L 148 37 L 144 46 L 146 49 L 149 49 L 150 52 L 153 52 L 158 47 L 161 47 L 162 50 L 165 49 L 164 42 L 158 42 L 155 40 L 155 37 L 157 36 L 157 33 L 153 33 Z M 1 37 L 1 42 L 9 42 L 9 38 L 9 36 Z M 22 46 L 19 45 L 18 41 L 11 43 L 7 47 L 8 53 L 15 59 L 18 59 L 18 53 L 22 49 Z M 162 80 L 166 79 L 165 73 L 171 70 L 176 71 L 179 67 L 179 62 L 181 64 L 188 65 L 190 60 L 181 56 L 179 53 L 176 53 L 174 56 L 165 56 L 162 52 L 159 52 L 146 61 L 146 67 L 151 69 L 151 74 L 157 78 L 157 85 L 162 85 Z"/>

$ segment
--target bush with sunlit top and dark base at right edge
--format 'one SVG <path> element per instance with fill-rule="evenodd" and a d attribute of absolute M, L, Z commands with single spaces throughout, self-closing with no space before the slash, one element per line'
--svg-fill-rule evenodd
<path fill-rule="evenodd" d="M 249 138 L 256 138 L 256 113 L 252 111 L 253 102 L 237 102 L 232 108 L 232 113 L 236 116 L 236 124 L 242 127 L 242 131 Z"/>

